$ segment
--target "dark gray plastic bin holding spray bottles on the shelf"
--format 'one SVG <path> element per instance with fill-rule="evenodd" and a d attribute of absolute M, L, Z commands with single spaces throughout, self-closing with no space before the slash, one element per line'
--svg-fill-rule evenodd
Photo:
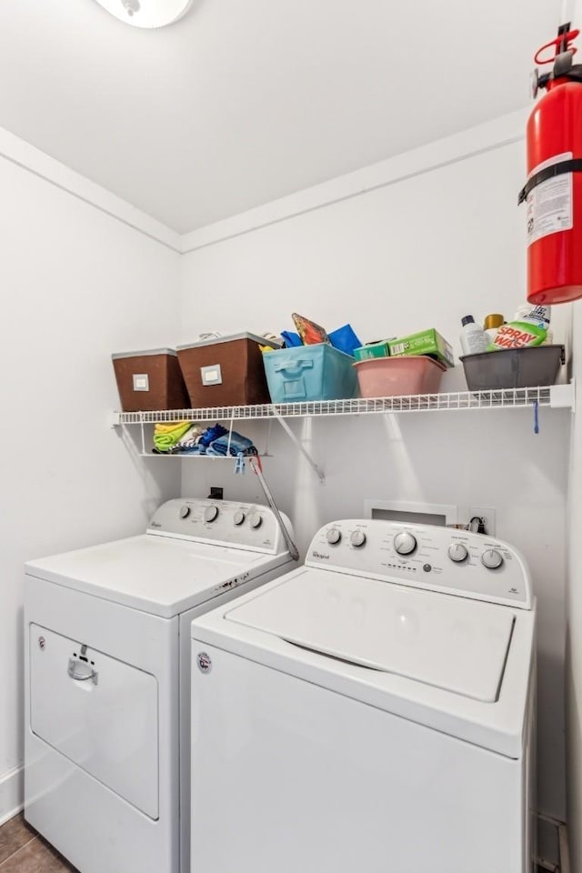
<path fill-rule="evenodd" d="M 530 346 L 463 355 L 459 360 L 469 391 L 495 391 L 554 385 L 566 357 L 564 346 Z"/>

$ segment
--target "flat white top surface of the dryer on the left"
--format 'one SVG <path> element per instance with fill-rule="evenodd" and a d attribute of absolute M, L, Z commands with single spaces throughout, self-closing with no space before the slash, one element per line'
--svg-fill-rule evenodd
<path fill-rule="evenodd" d="M 30 576 L 171 618 L 289 560 L 142 534 L 30 561 Z"/>

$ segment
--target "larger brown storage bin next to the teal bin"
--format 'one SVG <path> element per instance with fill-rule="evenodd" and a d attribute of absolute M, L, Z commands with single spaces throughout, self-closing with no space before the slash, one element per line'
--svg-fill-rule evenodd
<path fill-rule="evenodd" d="M 260 346 L 279 344 L 255 334 L 234 334 L 178 346 L 178 361 L 191 405 L 270 403 Z"/>

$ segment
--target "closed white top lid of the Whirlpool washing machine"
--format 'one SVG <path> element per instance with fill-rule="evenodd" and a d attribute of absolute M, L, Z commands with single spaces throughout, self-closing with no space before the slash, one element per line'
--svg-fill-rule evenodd
<path fill-rule="evenodd" d="M 506 607 L 314 570 L 259 592 L 226 618 L 488 703 L 499 696 L 515 621 Z"/>

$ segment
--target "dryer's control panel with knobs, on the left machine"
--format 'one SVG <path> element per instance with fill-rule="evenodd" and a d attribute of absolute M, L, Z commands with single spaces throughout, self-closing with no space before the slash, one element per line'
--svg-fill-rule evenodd
<path fill-rule="evenodd" d="M 286 527 L 293 528 L 285 516 Z M 232 500 L 176 498 L 156 509 L 147 528 L 158 537 L 178 537 L 216 546 L 235 546 L 277 555 L 285 540 L 270 507 Z"/>

